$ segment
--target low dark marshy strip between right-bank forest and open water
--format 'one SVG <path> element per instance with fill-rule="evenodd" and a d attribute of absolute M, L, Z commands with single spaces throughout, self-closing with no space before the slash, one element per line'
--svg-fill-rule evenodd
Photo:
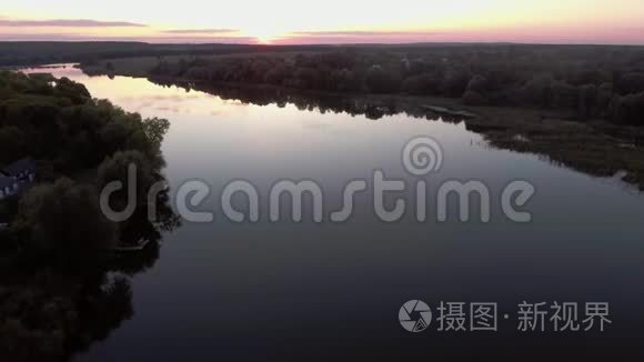
<path fill-rule="evenodd" d="M 644 130 L 637 127 L 615 125 L 601 120 L 577 122 L 570 113 L 550 110 L 466 107 L 460 99 L 449 98 L 339 94 L 274 86 L 207 84 L 170 78 L 150 80 L 254 104 L 303 102 L 373 119 L 405 112 L 427 120 L 464 122 L 467 130 L 482 134 L 492 147 L 540 154 L 554 164 L 595 177 L 620 174 L 624 182 L 644 190 Z"/>

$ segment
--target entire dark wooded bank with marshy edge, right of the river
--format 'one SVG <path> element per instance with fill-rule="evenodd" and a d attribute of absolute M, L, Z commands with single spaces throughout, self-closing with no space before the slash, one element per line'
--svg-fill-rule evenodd
<path fill-rule="evenodd" d="M 79 66 L 255 104 L 465 122 L 492 147 L 644 190 L 644 48 L 461 44 L 121 58 Z"/>

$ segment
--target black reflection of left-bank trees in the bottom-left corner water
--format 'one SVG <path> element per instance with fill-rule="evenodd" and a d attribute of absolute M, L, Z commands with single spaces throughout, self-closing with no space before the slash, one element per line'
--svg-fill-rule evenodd
<path fill-rule="evenodd" d="M 138 227 L 151 242 L 135 253 L 102 254 L 91 263 L 62 267 L 3 261 L 2 355 L 11 361 L 68 360 L 131 320 L 132 278 L 152 269 L 160 255 L 158 229 L 145 222 Z"/>

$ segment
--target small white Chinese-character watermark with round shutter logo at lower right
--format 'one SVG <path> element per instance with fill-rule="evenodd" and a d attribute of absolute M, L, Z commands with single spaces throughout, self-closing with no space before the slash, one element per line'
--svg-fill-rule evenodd
<path fill-rule="evenodd" d="M 499 304 L 491 302 L 440 302 L 436 311 L 436 332 L 497 332 Z M 420 333 L 432 324 L 432 308 L 421 300 L 411 300 L 401 306 L 399 321 L 409 332 Z M 606 302 L 539 302 L 523 301 L 516 305 L 516 331 L 529 332 L 604 332 L 611 321 Z"/>

